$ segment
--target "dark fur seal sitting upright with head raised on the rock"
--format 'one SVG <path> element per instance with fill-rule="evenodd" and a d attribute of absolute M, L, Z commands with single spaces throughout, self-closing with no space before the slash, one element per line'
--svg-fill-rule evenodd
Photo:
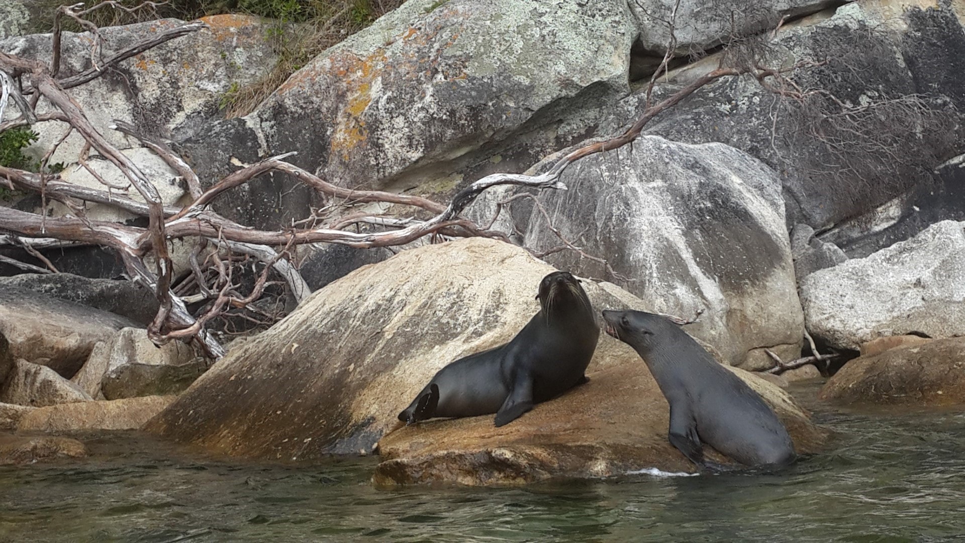
<path fill-rule="evenodd" d="M 539 283 L 540 309 L 510 340 L 439 370 L 399 414 L 406 424 L 435 416 L 496 414 L 503 426 L 588 381 L 599 340 L 593 306 L 580 280 L 553 272 Z"/>

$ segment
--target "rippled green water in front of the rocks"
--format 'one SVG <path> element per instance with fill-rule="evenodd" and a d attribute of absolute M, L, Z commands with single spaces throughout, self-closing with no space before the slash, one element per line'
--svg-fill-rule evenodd
<path fill-rule="evenodd" d="M 965 413 L 795 393 L 841 438 L 777 475 L 380 490 L 373 458 L 228 463 L 101 435 L 82 463 L 0 468 L 0 541 L 965 541 Z"/>

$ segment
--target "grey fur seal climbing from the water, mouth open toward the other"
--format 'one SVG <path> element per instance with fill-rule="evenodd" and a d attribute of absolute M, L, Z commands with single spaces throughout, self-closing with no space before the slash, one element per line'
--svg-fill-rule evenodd
<path fill-rule="evenodd" d="M 670 443 L 691 462 L 728 469 L 706 460 L 702 443 L 745 466 L 774 469 L 794 462 L 794 443 L 777 415 L 687 332 L 643 311 L 603 311 L 603 319 L 608 334 L 647 362 L 670 403 Z"/>

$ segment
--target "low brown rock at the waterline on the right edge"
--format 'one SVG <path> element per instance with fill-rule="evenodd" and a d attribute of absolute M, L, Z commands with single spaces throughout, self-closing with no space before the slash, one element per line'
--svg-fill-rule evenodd
<path fill-rule="evenodd" d="M 849 360 L 818 398 L 839 404 L 965 404 L 965 337 L 916 342 Z"/>

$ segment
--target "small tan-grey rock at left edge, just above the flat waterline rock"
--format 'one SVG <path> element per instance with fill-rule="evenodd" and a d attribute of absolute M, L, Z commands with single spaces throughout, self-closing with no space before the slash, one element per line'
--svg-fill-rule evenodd
<path fill-rule="evenodd" d="M 16 360 L 0 388 L 0 402 L 20 406 L 46 407 L 93 399 L 54 370 L 26 360 Z"/>

